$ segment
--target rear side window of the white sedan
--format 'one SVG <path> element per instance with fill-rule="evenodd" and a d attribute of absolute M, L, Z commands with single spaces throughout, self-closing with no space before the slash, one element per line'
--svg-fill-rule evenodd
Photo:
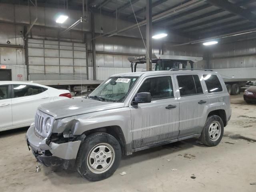
<path fill-rule="evenodd" d="M 14 90 L 14 98 L 36 95 L 45 91 L 44 88 L 39 86 L 22 85 L 22 84 L 13 85 L 13 90 Z"/>

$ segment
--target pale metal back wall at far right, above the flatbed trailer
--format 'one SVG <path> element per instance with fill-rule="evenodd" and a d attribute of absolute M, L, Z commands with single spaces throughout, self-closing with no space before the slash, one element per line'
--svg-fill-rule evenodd
<path fill-rule="evenodd" d="M 256 78 L 256 40 L 213 46 L 210 50 L 210 68 L 226 77 Z"/>

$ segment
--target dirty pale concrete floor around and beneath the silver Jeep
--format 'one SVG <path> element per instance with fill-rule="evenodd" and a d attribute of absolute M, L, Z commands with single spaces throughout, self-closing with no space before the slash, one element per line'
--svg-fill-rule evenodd
<path fill-rule="evenodd" d="M 190 139 L 136 152 L 100 182 L 44 166 L 36 172 L 24 139 L 27 128 L 0 132 L 0 191 L 256 192 L 256 104 L 246 104 L 242 94 L 231 102 L 232 118 L 218 146 Z"/>

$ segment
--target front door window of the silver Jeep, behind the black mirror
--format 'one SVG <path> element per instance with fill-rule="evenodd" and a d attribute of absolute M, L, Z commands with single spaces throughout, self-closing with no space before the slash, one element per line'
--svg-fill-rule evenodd
<path fill-rule="evenodd" d="M 150 92 L 152 100 L 172 98 L 173 88 L 171 77 L 156 77 L 145 80 L 138 90 L 140 92 Z"/>

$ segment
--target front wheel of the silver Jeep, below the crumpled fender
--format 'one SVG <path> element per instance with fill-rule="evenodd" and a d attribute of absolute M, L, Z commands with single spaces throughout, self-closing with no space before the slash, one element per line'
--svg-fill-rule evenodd
<path fill-rule="evenodd" d="M 116 171 L 121 156 L 120 144 L 112 135 L 101 132 L 91 134 L 80 144 L 76 169 L 89 181 L 103 180 Z"/>

